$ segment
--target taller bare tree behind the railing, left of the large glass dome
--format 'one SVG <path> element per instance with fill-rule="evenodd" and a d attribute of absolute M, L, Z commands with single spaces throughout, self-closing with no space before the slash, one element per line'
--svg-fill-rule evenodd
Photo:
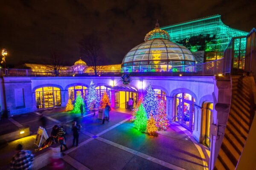
<path fill-rule="evenodd" d="M 103 49 L 102 43 L 95 34 L 84 36 L 80 41 L 80 53 L 95 75 L 102 69 Z"/>

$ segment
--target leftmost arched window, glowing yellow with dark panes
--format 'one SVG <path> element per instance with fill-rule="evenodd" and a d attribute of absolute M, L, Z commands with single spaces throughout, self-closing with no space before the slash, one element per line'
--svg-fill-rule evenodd
<path fill-rule="evenodd" d="M 37 108 L 61 106 L 61 90 L 56 87 L 43 87 L 35 90 Z"/>

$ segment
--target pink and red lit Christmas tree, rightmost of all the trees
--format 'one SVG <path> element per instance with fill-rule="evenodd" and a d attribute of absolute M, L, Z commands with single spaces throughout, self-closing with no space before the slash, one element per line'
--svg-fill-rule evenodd
<path fill-rule="evenodd" d="M 166 103 L 163 100 L 159 100 L 157 114 L 154 116 L 155 121 L 157 122 L 158 130 L 166 130 L 170 123 L 167 119 L 166 114 Z"/>

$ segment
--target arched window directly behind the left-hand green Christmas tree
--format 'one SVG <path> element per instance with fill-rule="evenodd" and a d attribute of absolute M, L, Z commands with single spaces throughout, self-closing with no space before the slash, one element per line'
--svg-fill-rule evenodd
<path fill-rule="evenodd" d="M 78 94 L 81 94 L 83 99 L 86 99 L 86 96 L 88 94 L 88 89 L 85 86 L 82 85 L 74 85 L 68 88 L 68 98 L 74 102 L 76 100 L 76 96 Z"/>

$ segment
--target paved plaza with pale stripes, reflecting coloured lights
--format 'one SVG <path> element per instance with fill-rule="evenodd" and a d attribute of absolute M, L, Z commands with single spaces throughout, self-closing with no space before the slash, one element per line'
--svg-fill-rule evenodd
<path fill-rule="evenodd" d="M 196 143 L 191 133 L 176 123 L 172 123 L 168 130 L 158 132 L 158 136 L 148 136 L 133 127 L 129 121 L 131 113 L 128 111 L 111 111 L 110 121 L 102 125 L 102 120 L 97 119 L 98 113 L 94 116 L 93 112 L 88 112 L 82 118 L 80 115 L 74 118 L 71 113 L 64 112 L 64 108 L 56 108 L 1 120 L 0 133 L 3 133 L 3 129 L 11 130 L 19 126 L 29 126 L 31 131 L 31 136 L 0 146 L 1 170 L 9 168 L 18 143 L 35 153 L 34 141 L 41 113 L 47 117 L 48 135 L 55 124 L 64 125 L 67 130 L 66 143 L 69 150 L 62 156 L 65 170 L 207 169 L 207 161 L 202 152 L 205 147 Z M 82 126 L 78 147 L 71 146 L 73 119 L 77 119 Z M 54 144 L 52 147 L 59 145 Z M 35 156 L 47 151 L 49 148 L 36 152 Z M 48 169 L 49 165 L 41 168 Z"/>

